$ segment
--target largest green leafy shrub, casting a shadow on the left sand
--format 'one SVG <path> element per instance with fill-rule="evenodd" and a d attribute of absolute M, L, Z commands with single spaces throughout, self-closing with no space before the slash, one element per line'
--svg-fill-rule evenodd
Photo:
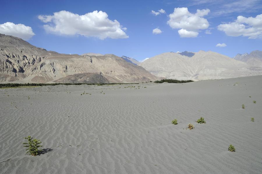
<path fill-rule="evenodd" d="M 41 152 L 41 149 L 38 149 L 42 147 L 41 141 L 39 139 L 33 139 L 30 135 L 28 137 L 24 137 L 24 139 L 27 139 L 27 143 L 23 143 L 24 147 L 26 147 L 26 153 L 29 153 L 30 155 L 36 156 Z"/>

